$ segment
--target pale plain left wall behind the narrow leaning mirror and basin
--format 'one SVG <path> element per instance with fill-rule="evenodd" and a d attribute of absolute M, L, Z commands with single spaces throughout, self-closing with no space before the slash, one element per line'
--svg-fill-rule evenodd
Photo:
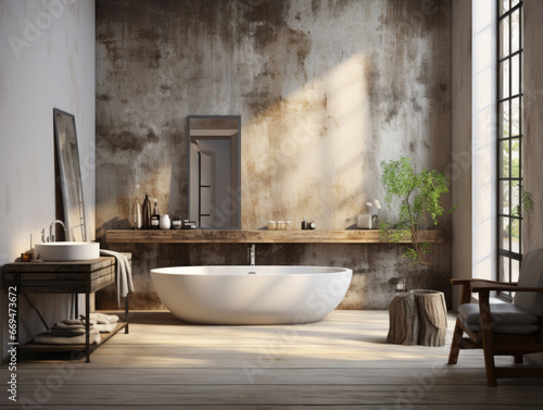
<path fill-rule="evenodd" d="M 30 248 L 55 218 L 53 108 L 76 117 L 87 237 L 94 237 L 94 0 L 0 0 L 0 265 Z M 31 296 L 45 319 L 70 297 Z M 22 341 L 42 330 L 21 300 Z M 2 359 L 5 295 L 0 293 Z"/>

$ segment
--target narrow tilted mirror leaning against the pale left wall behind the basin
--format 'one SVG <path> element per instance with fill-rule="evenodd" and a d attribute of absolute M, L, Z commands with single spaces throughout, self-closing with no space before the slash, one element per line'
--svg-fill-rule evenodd
<path fill-rule="evenodd" d="M 87 239 L 85 207 L 75 116 L 59 109 L 53 109 L 53 124 L 66 240 L 85 241 Z"/>

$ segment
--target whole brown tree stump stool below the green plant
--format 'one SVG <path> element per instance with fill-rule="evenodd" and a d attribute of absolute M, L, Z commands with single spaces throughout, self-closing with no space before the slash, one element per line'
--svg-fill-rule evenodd
<path fill-rule="evenodd" d="M 417 289 L 390 303 L 387 341 L 397 345 L 444 346 L 446 305 L 442 291 Z"/>

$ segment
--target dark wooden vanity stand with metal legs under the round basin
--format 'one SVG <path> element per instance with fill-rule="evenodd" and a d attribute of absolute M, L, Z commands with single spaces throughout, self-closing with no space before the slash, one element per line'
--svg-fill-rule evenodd
<path fill-rule="evenodd" d="M 115 258 L 102 257 L 90 261 L 72 262 L 14 262 L 4 265 L 5 291 L 16 295 L 16 335 L 14 345 L 17 350 L 27 352 L 84 351 L 85 361 L 90 353 L 108 341 L 121 330 L 128 333 L 128 297 L 125 300 L 125 321 L 117 324 L 111 333 L 101 335 L 98 345 L 89 345 L 89 314 L 86 314 L 85 345 L 38 345 L 34 340 L 18 346 L 21 294 L 85 294 L 85 312 L 90 312 L 90 294 L 115 283 Z M 75 315 L 78 316 L 77 297 Z"/>

